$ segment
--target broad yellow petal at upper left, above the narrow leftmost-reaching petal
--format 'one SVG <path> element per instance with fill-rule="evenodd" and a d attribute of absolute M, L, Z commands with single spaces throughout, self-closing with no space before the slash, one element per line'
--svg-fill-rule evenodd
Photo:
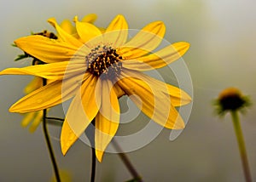
<path fill-rule="evenodd" d="M 21 37 L 15 40 L 15 45 L 45 63 L 68 61 L 77 51 L 77 48 L 70 44 L 38 35 Z"/>

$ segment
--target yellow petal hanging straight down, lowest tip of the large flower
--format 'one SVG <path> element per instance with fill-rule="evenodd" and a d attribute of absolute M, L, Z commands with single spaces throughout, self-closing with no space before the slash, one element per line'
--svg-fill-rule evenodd
<path fill-rule="evenodd" d="M 96 157 L 102 162 L 102 155 L 119 128 L 119 100 L 109 80 L 102 81 L 102 107 L 96 115 Z"/>

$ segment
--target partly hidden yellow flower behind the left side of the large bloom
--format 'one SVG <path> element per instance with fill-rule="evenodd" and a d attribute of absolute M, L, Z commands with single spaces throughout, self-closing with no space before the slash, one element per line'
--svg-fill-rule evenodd
<path fill-rule="evenodd" d="M 84 18 L 81 21 L 87 22 L 87 23 L 94 23 L 96 18 L 97 18 L 96 14 L 87 14 L 84 16 Z M 75 26 L 72 25 L 72 22 L 70 20 L 67 20 L 67 19 L 63 20 L 61 22 L 61 28 L 64 31 L 67 31 L 67 33 L 73 35 L 73 37 L 79 37 L 75 29 Z M 54 37 L 55 39 L 57 38 L 53 33 L 49 31 L 42 31 L 40 33 L 37 33 L 37 35 L 41 35 L 49 38 Z M 43 61 L 41 62 L 44 63 Z M 43 78 L 34 77 L 32 79 L 32 82 L 29 82 L 28 85 L 26 86 L 26 88 L 24 89 L 24 92 L 25 94 L 30 94 L 32 93 L 32 91 L 35 91 L 36 89 L 41 87 L 43 87 Z M 43 117 L 43 111 L 33 111 L 33 112 L 26 113 L 24 114 L 24 117 L 22 119 L 21 126 L 25 128 L 31 123 L 29 131 L 33 133 L 38 128 L 40 122 L 42 122 L 42 117 Z"/>

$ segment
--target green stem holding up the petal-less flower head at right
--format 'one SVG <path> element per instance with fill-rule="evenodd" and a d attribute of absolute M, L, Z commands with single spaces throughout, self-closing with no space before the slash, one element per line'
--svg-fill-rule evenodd
<path fill-rule="evenodd" d="M 234 128 L 235 128 L 237 143 L 238 143 L 239 150 L 240 150 L 241 162 L 242 162 L 245 179 L 247 182 L 252 182 L 249 163 L 247 160 L 247 151 L 246 151 L 246 146 L 244 143 L 243 135 L 241 132 L 241 125 L 240 125 L 240 121 L 239 121 L 239 117 L 238 117 L 238 112 L 232 111 L 231 116 L 232 116 L 232 120 L 233 120 L 233 124 L 234 124 Z"/>

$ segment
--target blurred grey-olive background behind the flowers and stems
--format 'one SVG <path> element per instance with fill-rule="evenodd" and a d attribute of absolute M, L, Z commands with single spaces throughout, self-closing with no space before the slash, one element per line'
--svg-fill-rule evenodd
<path fill-rule="evenodd" d="M 212 100 L 226 87 L 240 88 L 256 102 L 256 2 L 253 0 L 57 0 L 0 2 L 1 70 L 29 65 L 14 59 L 21 51 L 11 43 L 31 31 L 53 31 L 49 17 L 58 22 L 74 15 L 96 13 L 97 26 L 108 26 L 124 14 L 131 28 L 154 20 L 166 24 L 166 40 L 191 43 L 183 56 L 193 81 L 194 105 L 183 133 L 174 141 L 164 129 L 149 145 L 127 155 L 145 181 L 243 181 L 236 138 L 227 115 L 218 118 Z M 0 181 L 49 181 L 53 176 L 41 126 L 34 134 L 20 127 L 22 116 L 8 108 L 23 96 L 32 77 L 0 77 Z M 60 108 L 52 112 L 61 113 Z M 253 179 L 256 179 L 255 106 L 241 116 Z M 134 127 L 139 121 L 131 123 Z M 129 127 L 128 127 L 129 128 Z M 60 128 L 50 127 L 59 167 L 73 181 L 89 181 L 90 148 L 78 141 L 61 155 Z M 97 163 L 96 181 L 125 181 L 130 173 L 116 154 Z"/>

